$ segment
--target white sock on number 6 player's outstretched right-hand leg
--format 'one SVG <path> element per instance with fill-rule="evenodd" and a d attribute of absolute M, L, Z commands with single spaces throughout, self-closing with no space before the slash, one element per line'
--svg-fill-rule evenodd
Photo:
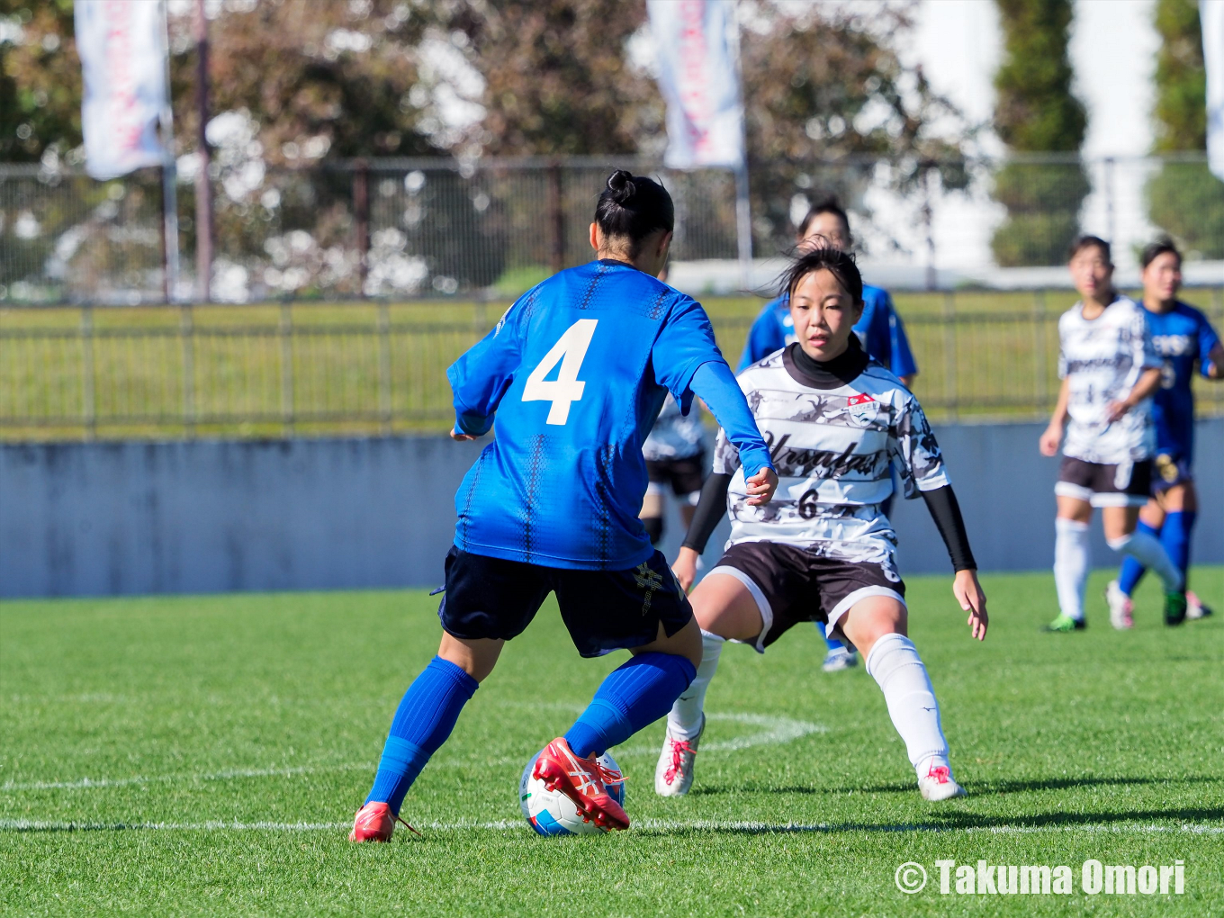
<path fill-rule="evenodd" d="M 885 634 L 867 655 L 867 671 L 884 690 L 892 726 L 905 741 L 918 777 L 925 777 L 934 766 L 947 765 L 939 701 L 913 641 L 903 634 Z"/>

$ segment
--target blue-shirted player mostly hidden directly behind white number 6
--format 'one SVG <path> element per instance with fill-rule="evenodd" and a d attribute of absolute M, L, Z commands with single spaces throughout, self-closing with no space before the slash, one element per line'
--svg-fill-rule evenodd
<path fill-rule="evenodd" d="M 818 201 L 799 224 L 796 241 L 800 250 L 819 244 L 848 252 L 854 245 L 849 231 L 849 217 L 835 198 Z M 887 290 L 863 284 L 863 316 L 854 323 L 854 334 L 869 356 L 890 370 L 907 388 L 913 384 L 918 366 L 909 351 L 906 328 L 892 307 L 892 297 Z M 765 308 L 753 322 L 744 353 L 739 359 L 739 370 L 748 368 L 793 340 L 794 323 L 791 319 L 787 297 L 782 295 L 765 304 Z M 892 509 L 891 502 L 891 497 L 884 502 L 885 517 Z M 825 638 L 825 644 L 827 645 L 823 667 L 825 672 L 848 670 L 858 663 L 853 649 L 840 640 Z"/>

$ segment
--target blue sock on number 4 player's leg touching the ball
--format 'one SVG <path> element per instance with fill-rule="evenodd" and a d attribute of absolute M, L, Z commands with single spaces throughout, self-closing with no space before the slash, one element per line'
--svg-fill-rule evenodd
<path fill-rule="evenodd" d="M 565 732 L 574 755 L 603 755 L 672 710 L 696 667 L 676 654 L 638 654 L 603 679 L 591 704 Z"/>

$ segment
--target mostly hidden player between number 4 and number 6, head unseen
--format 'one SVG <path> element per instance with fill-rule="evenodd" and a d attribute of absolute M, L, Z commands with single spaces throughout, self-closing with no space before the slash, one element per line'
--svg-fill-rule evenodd
<path fill-rule="evenodd" d="M 646 496 L 641 501 L 641 524 L 650 541 L 657 545 L 663 537 L 663 502 L 671 487 L 681 502 L 681 519 L 687 529 L 705 481 L 705 431 L 701 412 L 693 408 L 687 415 L 671 395 L 663 401 L 659 420 L 641 444 L 646 459 Z"/>

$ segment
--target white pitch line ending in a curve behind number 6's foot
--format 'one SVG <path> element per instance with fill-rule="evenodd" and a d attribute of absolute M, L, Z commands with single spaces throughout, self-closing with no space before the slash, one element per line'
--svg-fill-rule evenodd
<path fill-rule="evenodd" d="M 736 737 L 722 742 L 714 742 L 701 748 L 703 753 L 728 753 L 741 749 L 750 749 L 755 745 L 771 745 L 777 743 L 789 743 L 793 739 L 805 737 L 810 733 L 825 733 L 827 727 L 808 721 L 798 721 L 792 717 L 777 717 L 761 714 L 710 714 L 711 721 L 733 721 L 760 727 L 755 733 Z M 657 755 L 657 747 L 627 745 L 614 750 L 616 755 Z M 474 761 L 471 759 L 439 759 L 433 763 L 433 767 L 496 767 L 509 765 L 509 759 L 494 759 Z M 349 763 L 340 765 L 300 765 L 296 767 L 267 767 L 267 769 L 224 769 L 206 774 L 180 774 L 180 775 L 136 775 L 132 777 L 83 777 L 77 781 L 9 781 L 0 785 L 0 793 L 17 791 L 84 791 L 100 789 L 108 787 L 131 787 L 137 785 L 171 783 L 175 781 L 234 781 L 250 777 L 296 777 L 299 775 L 312 775 L 326 771 L 368 771 L 373 774 L 377 765 L 375 763 Z"/>

